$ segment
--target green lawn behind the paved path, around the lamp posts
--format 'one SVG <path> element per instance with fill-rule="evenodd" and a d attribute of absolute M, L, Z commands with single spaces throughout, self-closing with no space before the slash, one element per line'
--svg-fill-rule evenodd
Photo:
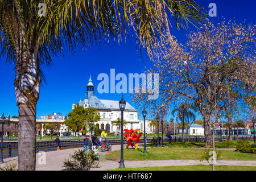
<path fill-rule="evenodd" d="M 155 147 L 147 148 L 147 154 L 143 154 L 143 148 L 124 149 L 123 156 L 125 160 L 182 160 L 182 159 L 200 159 L 203 154 L 200 148 L 168 148 Z M 256 154 L 236 152 L 234 150 L 221 150 L 220 160 L 256 160 Z M 120 151 L 114 151 L 106 154 L 106 159 L 119 160 Z"/>

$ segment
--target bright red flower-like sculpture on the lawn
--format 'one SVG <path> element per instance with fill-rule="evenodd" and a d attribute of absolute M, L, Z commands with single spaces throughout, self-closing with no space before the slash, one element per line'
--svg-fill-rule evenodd
<path fill-rule="evenodd" d="M 139 138 L 141 137 L 142 133 L 138 133 L 140 129 L 133 130 L 133 129 L 125 129 L 125 134 L 123 134 L 123 138 L 125 138 L 128 142 L 126 148 L 131 146 L 132 148 L 135 146 L 135 149 L 138 148 L 138 143 L 141 141 Z"/>

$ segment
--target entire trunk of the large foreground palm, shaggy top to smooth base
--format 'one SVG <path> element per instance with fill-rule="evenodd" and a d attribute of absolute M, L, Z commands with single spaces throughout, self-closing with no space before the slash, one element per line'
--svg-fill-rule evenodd
<path fill-rule="evenodd" d="M 15 96 L 19 106 L 19 171 L 34 171 L 36 165 L 36 103 L 39 99 L 38 48 L 33 51 L 18 50 L 15 65 Z"/>

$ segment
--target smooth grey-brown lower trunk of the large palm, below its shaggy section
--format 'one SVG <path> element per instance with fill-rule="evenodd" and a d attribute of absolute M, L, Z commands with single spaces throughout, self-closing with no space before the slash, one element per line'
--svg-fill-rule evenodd
<path fill-rule="evenodd" d="M 36 104 L 19 104 L 19 171 L 35 171 L 36 166 Z"/>

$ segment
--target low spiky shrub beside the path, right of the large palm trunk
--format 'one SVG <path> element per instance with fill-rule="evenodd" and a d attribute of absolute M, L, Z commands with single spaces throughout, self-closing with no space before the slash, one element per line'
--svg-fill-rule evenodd
<path fill-rule="evenodd" d="M 89 171 L 90 168 L 98 167 L 97 155 L 89 150 L 84 152 L 79 149 L 73 155 L 69 155 L 69 158 L 64 162 L 64 167 L 68 170 Z"/>

